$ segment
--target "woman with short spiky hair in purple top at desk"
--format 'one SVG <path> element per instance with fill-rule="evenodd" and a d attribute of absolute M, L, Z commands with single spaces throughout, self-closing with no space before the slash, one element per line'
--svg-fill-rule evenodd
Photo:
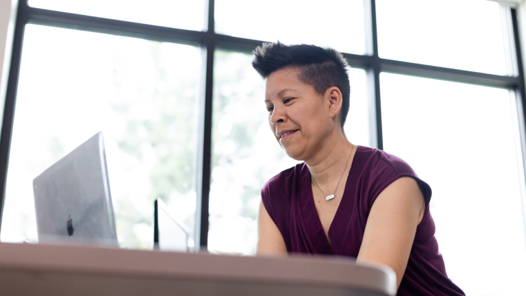
<path fill-rule="evenodd" d="M 333 49 L 269 43 L 254 51 L 268 123 L 304 163 L 262 188 L 256 254 L 329 254 L 388 265 L 398 295 L 464 295 L 447 277 L 429 213 L 431 188 L 411 167 L 353 145 L 347 62 Z"/>

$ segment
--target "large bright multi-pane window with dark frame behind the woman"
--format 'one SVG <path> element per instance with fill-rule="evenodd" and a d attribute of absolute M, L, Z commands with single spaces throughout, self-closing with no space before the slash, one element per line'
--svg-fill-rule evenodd
<path fill-rule="evenodd" d="M 268 127 L 251 51 L 312 43 L 351 65 L 349 140 L 403 158 L 431 185 L 453 282 L 468 295 L 524 295 L 516 23 L 486 0 L 21 0 L 0 238 L 38 240 L 33 178 L 101 130 L 121 247 L 151 248 L 160 198 L 194 250 L 253 254 L 260 189 L 297 161 Z"/>

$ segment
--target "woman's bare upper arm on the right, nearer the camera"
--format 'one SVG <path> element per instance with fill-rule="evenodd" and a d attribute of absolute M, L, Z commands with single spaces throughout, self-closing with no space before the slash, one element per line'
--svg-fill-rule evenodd
<path fill-rule="evenodd" d="M 378 195 L 369 212 L 358 261 L 388 265 L 397 273 L 397 287 L 400 286 L 424 211 L 424 197 L 414 179 L 401 177 L 392 182 Z"/>

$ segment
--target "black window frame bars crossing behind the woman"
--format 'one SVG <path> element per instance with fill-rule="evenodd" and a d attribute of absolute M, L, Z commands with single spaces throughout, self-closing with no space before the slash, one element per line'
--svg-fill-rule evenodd
<path fill-rule="evenodd" d="M 128 36 L 155 40 L 160 42 L 175 42 L 179 44 L 195 45 L 201 47 L 203 55 L 204 73 L 203 86 L 204 96 L 201 101 L 201 118 L 199 121 L 199 145 L 198 145 L 198 167 L 197 167 L 197 208 L 195 225 L 195 244 L 196 250 L 199 246 L 208 246 L 209 228 L 209 194 L 210 194 L 210 160 L 212 151 L 212 88 L 214 71 L 214 51 L 216 49 L 226 49 L 251 53 L 255 47 L 262 45 L 262 40 L 238 38 L 217 34 L 214 30 L 214 0 L 206 1 L 205 9 L 205 29 L 197 32 L 186 29 L 176 29 L 170 27 L 160 27 L 129 21 L 118 21 L 110 18 L 100 18 L 96 16 L 86 16 L 82 14 L 72 14 L 68 12 L 58 12 L 32 8 L 27 4 L 28 0 L 19 0 L 16 12 L 16 26 L 14 29 L 14 40 L 12 45 L 12 56 L 8 77 L 8 88 L 5 96 L 3 108 L 3 123 L 0 135 L 0 230 L 3 217 L 3 205 L 5 200 L 5 186 L 8 174 L 8 162 L 10 154 L 10 144 L 12 138 L 12 126 L 14 110 L 16 105 L 16 93 L 18 88 L 18 77 L 21 65 L 21 54 L 25 25 L 46 25 L 65 29 L 77 29 L 87 32 L 97 32 L 102 34 L 112 34 L 118 36 Z M 517 99 L 519 107 L 519 127 L 521 133 L 521 147 L 523 149 L 523 159 L 526 159 L 526 94 L 524 85 L 523 61 L 521 47 L 518 37 L 517 12 L 514 8 L 508 9 L 508 27 L 512 30 L 512 40 L 510 44 L 512 60 L 515 69 L 514 75 L 492 75 L 473 71 L 450 69 L 440 66 L 429 66 L 426 64 L 416 64 L 412 62 L 401 62 L 398 60 L 388 60 L 380 58 L 378 55 L 378 38 L 376 22 L 376 1 L 365 1 L 366 14 L 366 54 L 356 55 L 343 53 L 349 65 L 358 69 L 364 69 L 368 75 L 368 99 L 371 108 L 371 146 L 383 149 L 383 136 L 381 127 L 381 99 L 379 75 L 382 72 L 411 75 L 432 79 L 441 79 L 450 82 L 462 82 L 476 84 L 480 86 L 490 86 L 506 88 L 512 90 Z M 516 66 L 516 68 L 515 68 Z"/>

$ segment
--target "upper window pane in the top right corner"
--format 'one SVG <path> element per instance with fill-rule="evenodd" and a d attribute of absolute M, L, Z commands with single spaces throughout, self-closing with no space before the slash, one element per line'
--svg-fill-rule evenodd
<path fill-rule="evenodd" d="M 499 4 L 377 0 L 381 58 L 507 75 Z"/>

